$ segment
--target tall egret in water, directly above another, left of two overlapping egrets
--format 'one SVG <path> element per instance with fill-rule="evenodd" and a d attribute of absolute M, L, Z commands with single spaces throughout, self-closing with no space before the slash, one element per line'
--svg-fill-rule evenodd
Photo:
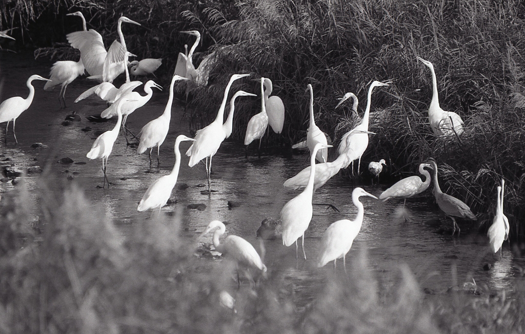
<path fill-rule="evenodd" d="M 153 147 L 157 147 L 157 163 L 160 164 L 159 152 L 164 139 L 166 139 L 167 132 L 170 130 L 171 120 L 171 106 L 173 105 L 173 85 L 177 80 L 188 80 L 181 76 L 173 76 L 170 84 L 170 97 L 167 99 L 167 104 L 162 115 L 155 118 L 153 121 L 142 127 L 139 133 L 140 143 L 137 147 L 137 153 L 142 154 L 146 149 L 150 149 L 150 165 L 151 165 L 151 151 Z"/>

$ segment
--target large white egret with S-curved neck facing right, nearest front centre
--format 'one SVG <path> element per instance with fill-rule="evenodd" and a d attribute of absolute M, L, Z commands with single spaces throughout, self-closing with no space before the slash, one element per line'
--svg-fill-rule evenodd
<path fill-rule="evenodd" d="M 377 199 L 371 193 L 364 191 L 362 188 L 355 188 L 352 191 L 352 202 L 358 208 L 355 220 L 342 219 L 331 224 L 321 238 L 320 253 L 317 261 L 318 267 L 323 267 L 330 261 L 333 261 L 333 269 L 337 266 L 337 259 L 343 258 L 344 272 L 346 272 L 346 253 L 350 251 L 355 237 L 361 230 L 363 224 L 364 208 L 359 197 L 369 196 Z"/>

